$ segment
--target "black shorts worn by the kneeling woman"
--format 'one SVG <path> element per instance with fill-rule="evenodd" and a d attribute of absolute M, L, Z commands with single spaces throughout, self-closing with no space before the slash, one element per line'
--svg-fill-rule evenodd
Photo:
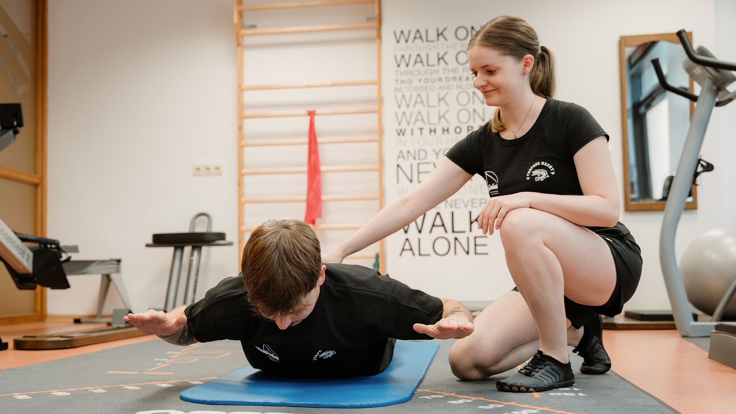
<path fill-rule="evenodd" d="M 626 304 L 637 290 L 642 274 L 641 249 L 626 226 L 619 222 L 615 227 L 588 227 L 588 229 L 603 237 L 611 249 L 616 267 L 616 287 L 611 298 L 601 306 L 581 305 L 565 296 L 565 316 L 576 328 L 580 328 L 596 315 L 620 314 L 623 304 Z M 519 291 L 516 287 L 513 290 Z"/>

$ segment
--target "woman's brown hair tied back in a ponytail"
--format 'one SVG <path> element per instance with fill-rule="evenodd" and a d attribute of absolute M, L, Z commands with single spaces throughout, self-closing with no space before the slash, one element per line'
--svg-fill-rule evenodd
<path fill-rule="evenodd" d="M 551 98 L 554 95 L 555 65 L 552 51 L 539 46 L 537 32 L 523 18 L 500 15 L 484 24 L 467 43 L 467 49 L 473 46 L 485 46 L 498 50 L 502 55 L 522 60 L 526 55 L 534 56 L 534 66 L 529 73 L 531 91 L 540 97 Z M 491 129 L 497 133 L 506 129 L 501 120 L 500 108 L 496 108 L 491 117 Z"/>

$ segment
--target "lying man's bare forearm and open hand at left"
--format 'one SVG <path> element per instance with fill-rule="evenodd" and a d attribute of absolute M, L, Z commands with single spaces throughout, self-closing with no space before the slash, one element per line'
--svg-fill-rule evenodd
<path fill-rule="evenodd" d="M 149 309 L 144 313 L 129 313 L 123 317 L 126 322 L 132 323 L 144 334 L 154 334 L 174 345 L 191 345 L 197 343 L 197 338 L 189 331 L 184 315 L 186 306 L 171 309 L 170 312 L 161 312 Z"/>

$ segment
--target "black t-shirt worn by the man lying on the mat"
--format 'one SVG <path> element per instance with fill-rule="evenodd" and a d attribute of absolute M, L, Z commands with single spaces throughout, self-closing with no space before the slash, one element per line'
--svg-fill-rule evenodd
<path fill-rule="evenodd" d="M 225 278 L 185 309 L 199 342 L 239 340 L 253 368 L 277 376 L 372 375 L 389 365 L 395 339 L 429 340 L 414 323 L 442 319 L 442 301 L 368 267 L 326 264 L 314 310 L 281 330 L 253 312 L 240 276 Z"/>

